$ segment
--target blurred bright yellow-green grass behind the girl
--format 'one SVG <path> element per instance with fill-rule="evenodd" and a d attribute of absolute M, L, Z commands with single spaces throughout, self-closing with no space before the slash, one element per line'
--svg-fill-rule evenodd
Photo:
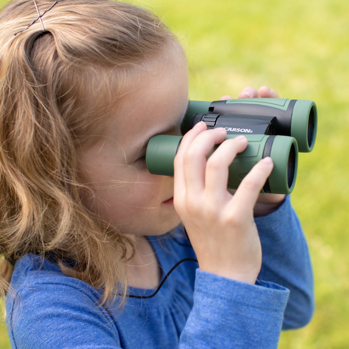
<path fill-rule="evenodd" d="M 349 1 L 135 3 L 164 16 L 183 42 L 191 99 L 268 85 L 282 97 L 317 103 L 317 142 L 299 155 L 292 193 L 311 251 L 316 310 L 308 326 L 281 334 L 279 348 L 349 348 Z"/>

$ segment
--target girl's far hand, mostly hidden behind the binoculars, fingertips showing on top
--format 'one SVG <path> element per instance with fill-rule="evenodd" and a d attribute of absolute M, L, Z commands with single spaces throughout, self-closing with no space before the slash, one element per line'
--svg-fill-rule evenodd
<path fill-rule="evenodd" d="M 268 86 L 262 86 L 257 91 L 253 87 L 245 87 L 238 95 L 238 98 L 280 98 L 279 94 Z M 220 100 L 231 99 L 225 95 Z M 235 193 L 234 189 L 228 189 L 231 194 Z M 254 206 L 254 217 L 266 216 L 275 211 L 285 199 L 284 194 L 260 194 L 256 205 Z"/>

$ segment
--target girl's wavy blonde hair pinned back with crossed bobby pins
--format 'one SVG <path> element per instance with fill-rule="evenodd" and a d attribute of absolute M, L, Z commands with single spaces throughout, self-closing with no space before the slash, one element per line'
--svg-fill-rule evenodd
<path fill-rule="evenodd" d="M 126 293 L 124 261 L 134 246 L 84 205 L 77 154 L 101 131 L 110 106 L 101 96 L 116 100 L 142 63 L 176 39 L 148 10 L 107 0 L 60 0 L 43 16 L 46 32 L 37 22 L 14 36 L 36 17 L 31 0 L 0 13 L 0 293 L 8 261 L 37 253 L 103 288 L 103 304 Z"/>

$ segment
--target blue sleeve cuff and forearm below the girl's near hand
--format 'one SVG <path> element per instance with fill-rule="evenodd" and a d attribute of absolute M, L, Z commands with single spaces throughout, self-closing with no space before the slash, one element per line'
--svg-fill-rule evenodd
<path fill-rule="evenodd" d="M 289 291 L 196 270 L 194 306 L 180 349 L 277 348 Z"/>

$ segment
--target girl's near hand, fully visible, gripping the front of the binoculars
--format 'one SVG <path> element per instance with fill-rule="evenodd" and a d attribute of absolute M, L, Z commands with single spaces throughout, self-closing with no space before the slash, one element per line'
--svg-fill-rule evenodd
<path fill-rule="evenodd" d="M 254 284 L 262 250 L 253 207 L 273 163 L 270 158 L 259 161 L 231 195 L 228 167 L 246 148 L 247 139 L 223 141 L 226 136 L 223 128 L 207 130 L 203 122 L 184 135 L 174 159 L 173 203 L 200 269 Z M 206 160 L 213 146 L 221 142 Z"/>

